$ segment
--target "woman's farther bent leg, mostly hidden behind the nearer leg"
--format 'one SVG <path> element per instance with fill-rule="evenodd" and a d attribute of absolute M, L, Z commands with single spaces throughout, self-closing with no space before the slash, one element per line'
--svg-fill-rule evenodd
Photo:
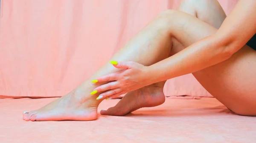
<path fill-rule="evenodd" d="M 217 0 L 183 0 L 178 10 L 191 14 L 215 28 L 219 28 L 226 18 L 226 14 Z M 175 54 L 184 48 L 176 39 L 172 39 L 172 41 L 171 54 Z M 126 115 L 142 107 L 153 107 L 159 105 L 159 102 L 163 103 L 165 97 L 159 93 L 159 91 L 162 91 L 161 88 L 152 88 L 152 86 L 127 93 L 116 106 L 106 111 L 102 110 L 101 114 Z"/>

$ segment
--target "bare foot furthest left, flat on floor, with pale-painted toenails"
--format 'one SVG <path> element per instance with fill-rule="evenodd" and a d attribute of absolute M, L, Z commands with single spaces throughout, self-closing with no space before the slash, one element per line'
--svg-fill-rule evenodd
<path fill-rule="evenodd" d="M 74 92 L 73 92 L 74 93 Z M 99 101 L 96 97 L 91 97 L 84 102 L 76 98 L 73 93 L 69 93 L 46 106 L 31 111 L 24 112 L 25 121 L 91 121 L 97 119 L 97 108 Z"/>

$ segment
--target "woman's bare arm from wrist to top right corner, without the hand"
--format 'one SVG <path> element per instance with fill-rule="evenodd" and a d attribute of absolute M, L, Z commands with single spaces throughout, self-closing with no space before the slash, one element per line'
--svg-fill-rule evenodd
<path fill-rule="evenodd" d="M 256 33 L 256 0 L 240 0 L 212 36 L 148 67 L 159 82 L 194 73 L 229 59 Z"/>

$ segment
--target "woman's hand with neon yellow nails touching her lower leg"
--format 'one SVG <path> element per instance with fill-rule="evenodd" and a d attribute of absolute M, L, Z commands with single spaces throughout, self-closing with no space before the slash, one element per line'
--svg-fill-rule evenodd
<path fill-rule="evenodd" d="M 93 82 L 111 81 L 107 84 L 103 84 L 96 87 L 91 94 L 103 92 L 99 95 L 101 98 L 112 98 L 119 95 L 128 93 L 129 91 L 137 90 L 141 87 L 149 85 L 147 75 L 147 69 L 144 65 L 137 62 L 116 62 L 111 61 L 116 68 L 124 69 L 117 73 L 111 73 L 106 76 L 99 77 Z"/>

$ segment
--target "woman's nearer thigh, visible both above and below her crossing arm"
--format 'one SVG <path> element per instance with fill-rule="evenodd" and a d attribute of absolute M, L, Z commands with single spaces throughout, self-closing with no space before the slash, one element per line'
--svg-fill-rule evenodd
<path fill-rule="evenodd" d="M 180 11 L 170 14 L 172 18 L 170 33 L 183 45 L 173 46 L 172 52 L 177 53 L 217 31 L 208 23 Z M 256 51 L 252 48 L 245 45 L 230 59 L 192 74 L 232 111 L 239 115 L 256 115 Z"/>

